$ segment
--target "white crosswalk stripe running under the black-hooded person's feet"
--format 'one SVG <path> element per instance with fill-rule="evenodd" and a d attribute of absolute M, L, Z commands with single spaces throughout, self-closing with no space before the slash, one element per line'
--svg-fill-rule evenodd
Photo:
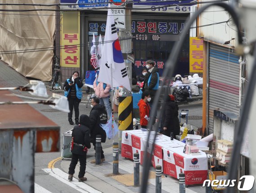
<path fill-rule="evenodd" d="M 66 172 L 63 172 L 59 168 L 45 168 L 42 169 L 44 172 L 48 173 L 50 176 L 55 177 L 57 180 L 60 180 L 61 182 L 71 186 L 72 188 L 76 189 L 77 191 L 81 193 L 101 193 L 100 191 L 93 189 L 91 186 L 79 182 L 76 178 L 73 177 L 72 181 L 68 181 L 68 174 Z"/>

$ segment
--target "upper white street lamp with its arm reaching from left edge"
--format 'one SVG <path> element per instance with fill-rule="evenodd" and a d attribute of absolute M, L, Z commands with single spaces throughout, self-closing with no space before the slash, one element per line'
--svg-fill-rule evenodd
<path fill-rule="evenodd" d="M 31 86 L 28 86 L 28 85 L 31 85 Z M 44 82 L 42 82 L 42 81 L 31 80 L 25 86 L 6 87 L 6 88 L 0 88 L 0 90 L 28 91 L 30 94 L 32 94 L 34 96 L 48 97 L 46 87 L 44 85 Z"/>

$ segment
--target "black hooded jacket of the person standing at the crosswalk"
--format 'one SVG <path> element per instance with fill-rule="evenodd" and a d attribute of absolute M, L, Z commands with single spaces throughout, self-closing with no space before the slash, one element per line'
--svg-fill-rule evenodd
<path fill-rule="evenodd" d="M 72 130 L 72 137 L 74 137 L 74 143 L 85 145 L 88 149 L 91 148 L 89 126 L 89 117 L 87 115 L 81 115 L 79 119 L 79 125 L 75 125 L 74 129 Z M 72 151 L 72 153 L 83 154 L 84 152 Z"/>

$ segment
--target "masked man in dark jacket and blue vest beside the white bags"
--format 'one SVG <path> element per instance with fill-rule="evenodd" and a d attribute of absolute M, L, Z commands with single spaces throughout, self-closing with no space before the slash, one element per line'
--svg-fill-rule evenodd
<path fill-rule="evenodd" d="M 153 60 L 147 60 L 146 68 L 148 69 L 148 73 L 144 78 L 144 84 L 142 87 L 142 91 L 149 90 L 151 102 L 150 105 L 153 104 L 154 95 L 159 87 L 159 70 L 155 66 L 155 62 Z"/>

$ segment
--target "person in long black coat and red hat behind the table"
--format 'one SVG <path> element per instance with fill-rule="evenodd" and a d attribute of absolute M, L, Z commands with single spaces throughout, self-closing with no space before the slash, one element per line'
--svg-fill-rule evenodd
<path fill-rule="evenodd" d="M 174 96 L 166 96 L 165 103 L 162 105 L 163 108 L 163 119 L 161 121 L 160 133 L 168 137 L 173 133 L 173 138 L 176 139 L 176 135 L 180 133 L 180 121 L 178 118 L 179 107 L 177 103 L 174 102 Z"/>

